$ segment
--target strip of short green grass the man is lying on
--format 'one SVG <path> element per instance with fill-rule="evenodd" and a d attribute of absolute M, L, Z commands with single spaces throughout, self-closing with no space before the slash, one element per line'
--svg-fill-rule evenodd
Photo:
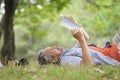
<path fill-rule="evenodd" d="M 120 67 L 39 66 L 36 61 L 31 61 L 28 66 L 0 68 L 0 80 L 120 80 Z"/>

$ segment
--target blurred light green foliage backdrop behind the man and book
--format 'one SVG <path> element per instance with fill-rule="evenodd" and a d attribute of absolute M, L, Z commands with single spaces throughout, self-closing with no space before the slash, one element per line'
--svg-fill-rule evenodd
<path fill-rule="evenodd" d="M 88 43 L 104 46 L 106 41 L 112 42 L 118 30 L 119 2 L 119 0 L 71 0 L 60 14 L 72 15 L 76 19 L 90 35 Z M 35 6 L 25 6 L 21 9 L 19 5 L 14 21 L 17 57 L 37 54 L 39 49 L 46 46 L 60 45 L 68 49 L 76 43 L 70 31 L 60 25 L 60 14 L 56 11 L 49 14 L 47 11 L 50 10 L 40 12 Z M 45 13 L 46 16 L 42 16 Z"/>

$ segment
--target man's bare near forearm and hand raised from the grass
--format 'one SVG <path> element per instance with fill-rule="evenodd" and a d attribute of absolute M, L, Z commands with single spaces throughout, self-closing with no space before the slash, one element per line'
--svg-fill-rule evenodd
<path fill-rule="evenodd" d="M 83 58 L 82 58 L 81 63 L 87 64 L 87 65 L 93 65 L 94 64 L 93 58 L 89 52 L 83 31 L 81 29 L 80 30 L 73 29 L 73 30 L 71 30 L 71 32 L 72 32 L 73 37 L 78 40 L 78 42 L 81 46 L 81 49 L 82 49 Z"/>

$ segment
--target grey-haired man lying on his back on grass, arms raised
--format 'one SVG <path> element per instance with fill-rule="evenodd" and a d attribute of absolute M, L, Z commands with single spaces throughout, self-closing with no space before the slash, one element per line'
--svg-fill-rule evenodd
<path fill-rule="evenodd" d="M 73 66 L 82 64 L 120 65 L 120 53 L 118 52 L 117 44 L 107 45 L 104 48 L 87 45 L 89 36 L 84 29 L 72 29 L 71 33 L 78 40 L 79 44 L 77 46 L 69 50 L 64 50 L 59 46 L 47 47 L 39 52 L 39 64 L 55 63 Z"/>

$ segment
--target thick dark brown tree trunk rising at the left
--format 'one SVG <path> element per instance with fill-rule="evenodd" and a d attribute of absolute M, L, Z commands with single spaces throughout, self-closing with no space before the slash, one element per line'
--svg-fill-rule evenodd
<path fill-rule="evenodd" d="M 19 0 L 4 0 L 4 2 L 5 15 L 1 25 L 3 28 L 4 42 L 1 50 L 1 61 L 4 65 L 6 65 L 9 60 L 15 59 L 13 18 Z"/>

